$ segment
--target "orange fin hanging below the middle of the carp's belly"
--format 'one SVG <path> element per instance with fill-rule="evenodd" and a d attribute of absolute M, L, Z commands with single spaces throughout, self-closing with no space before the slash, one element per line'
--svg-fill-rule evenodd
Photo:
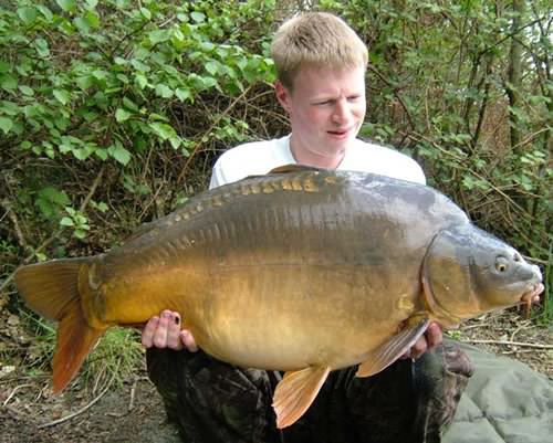
<path fill-rule="evenodd" d="M 328 367 L 309 367 L 284 375 L 273 397 L 276 428 L 290 426 L 303 415 L 315 400 L 330 372 Z"/>

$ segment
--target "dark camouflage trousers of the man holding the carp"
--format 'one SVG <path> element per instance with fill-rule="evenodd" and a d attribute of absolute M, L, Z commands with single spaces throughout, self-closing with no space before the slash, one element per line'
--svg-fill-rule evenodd
<path fill-rule="evenodd" d="M 147 365 L 186 443 L 440 442 L 472 375 L 451 341 L 369 378 L 354 377 L 355 367 L 333 371 L 307 412 L 279 431 L 271 407 L 278 372 L 186 350 L 149 349 Z"/>

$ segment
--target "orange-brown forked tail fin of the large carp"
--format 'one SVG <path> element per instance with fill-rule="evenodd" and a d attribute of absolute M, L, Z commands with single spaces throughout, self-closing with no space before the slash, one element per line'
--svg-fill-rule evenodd
<path fill-rule="evenodd" d="M 84 359 L 105 329 L 92 328 L 81 307 L 79 274 L 90 259 L 53 260 L 20 267 L 15 284 L 27 305 L 60 321 L 53 361 L 54 391 L 75 377 Z"/>

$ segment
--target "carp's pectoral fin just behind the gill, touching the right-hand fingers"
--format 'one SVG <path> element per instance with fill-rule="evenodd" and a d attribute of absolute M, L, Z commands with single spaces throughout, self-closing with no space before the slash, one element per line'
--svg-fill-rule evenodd
<path fill-rule="evenodd" d="M 427 316 L 410 318 L 399 334 L 371 352 L 367 360 L 359 365 L 355 377 L 371 377 L 386 369 L 415 345 L 429 324 L 430 319 Z"/>

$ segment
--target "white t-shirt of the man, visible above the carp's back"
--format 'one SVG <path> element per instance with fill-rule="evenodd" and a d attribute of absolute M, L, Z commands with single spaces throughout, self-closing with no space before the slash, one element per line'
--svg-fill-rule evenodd
<path fill-rule="evenodd" d="M 290 150 L 290 135 L 273 140 L 239 145 L 219 157 L 213 167 L 209 188 L 231 183 L 248 176 L 264 175 L 279 166 L 295 162 Z M 352 146 L 347 147 L 336 169 L 372 172 L 426 183 L 422 169 L 410 157 L 359 139 L 355 139 Z"/>

